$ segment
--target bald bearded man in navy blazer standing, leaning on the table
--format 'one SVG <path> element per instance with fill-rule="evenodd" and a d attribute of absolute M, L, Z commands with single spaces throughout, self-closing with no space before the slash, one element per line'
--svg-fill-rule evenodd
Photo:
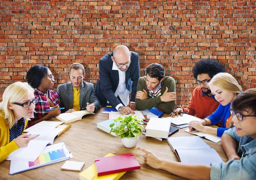
<path fill-rule="evenodd" d="M 134 114 L 137 82 L 140 78 L 139 55 L 126 46 L 117 46 L 99 60 L 99 80 L 95 86 L 101 107 L 110 104 L 122 114 Z M 129 103 L 129 92 L 131 102 Z"/>

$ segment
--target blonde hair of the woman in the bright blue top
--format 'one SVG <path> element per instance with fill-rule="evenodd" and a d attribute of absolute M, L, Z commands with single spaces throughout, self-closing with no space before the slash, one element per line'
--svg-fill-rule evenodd
<path fill-rule="evenodd" d="M 220 87 L 223 90 L 226 90 L 230 93 L 236 93 L 238 95 L 242 92 L 241 86 L 238 84 L 236 79 L 229 73 L 218 73 L 213 76 L 209 85 L 215 85 Z"/>

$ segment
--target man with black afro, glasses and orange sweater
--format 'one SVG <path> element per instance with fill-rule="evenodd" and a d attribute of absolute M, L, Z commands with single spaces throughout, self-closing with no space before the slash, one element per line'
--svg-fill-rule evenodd
<path fill-rule="evenodd" d="M 174 113 L 169 114 L 171 117 L 178 116 L 179 112 L 188 111 L 189 115 L 204 119 L 219 106 L 208 83 L 215 74 L 225 72 L 224 67 L 215 60 L 202 59 L 195 64 L 192 72 L 199 86 L 193 90 L 189 105 L 186 108 L 177 107 Z M 182 113 L 180 115 L 182 116 Z"/>

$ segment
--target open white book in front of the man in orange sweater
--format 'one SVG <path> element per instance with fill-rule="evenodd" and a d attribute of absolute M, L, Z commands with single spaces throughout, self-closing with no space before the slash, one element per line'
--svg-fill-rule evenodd
<path fill-rule="evenodd" d="M 191 121 L 200 121 L 201 119 L 191 116 L 188 114 L 183 114 L 183 116 L 175 116 L 174 118 L 172 117 L 167 117 L 168 119 L 171 119 L 172 125 L 175 126 L 176 128 L 186 128 L 189 126 L 189 122 Z"/>

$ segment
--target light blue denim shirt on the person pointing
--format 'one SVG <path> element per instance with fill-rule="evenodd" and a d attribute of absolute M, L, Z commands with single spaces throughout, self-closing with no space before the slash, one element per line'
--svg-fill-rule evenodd
<path fill-rule="evenodd" d="M 212 163 L 211 180 L 256 180 L 256 138 L 239 137 L 235 128 L 224 132 L 239 142 L 238 154 L 243 154 L 240 160 L 230 160 L 227 163 Z"/>

